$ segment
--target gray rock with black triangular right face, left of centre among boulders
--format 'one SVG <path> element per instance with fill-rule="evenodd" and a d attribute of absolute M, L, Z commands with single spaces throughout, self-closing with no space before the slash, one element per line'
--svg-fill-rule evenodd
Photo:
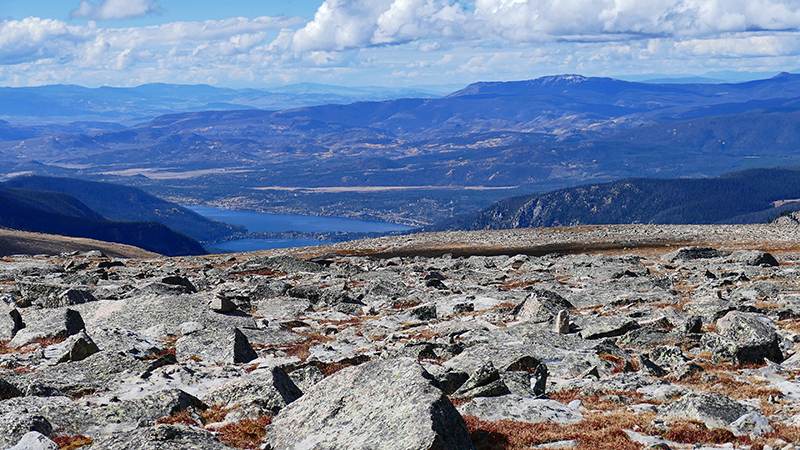
<path fill-rule="evenodd" d="M 203 361 L 240 364 L 258 358 L 247 336 L 238 328 L 201 330 L 182 336 L 175 342 L 175 356 L 179 360 L 190 357 Z"/>

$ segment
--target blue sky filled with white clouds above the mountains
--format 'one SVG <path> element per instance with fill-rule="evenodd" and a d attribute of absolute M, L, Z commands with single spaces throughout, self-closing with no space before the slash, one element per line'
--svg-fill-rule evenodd
<path fill-rule="evenodd" d="M 800 0 L 0 0 L 0 86 L 456 85 L 800 69 Z"/>

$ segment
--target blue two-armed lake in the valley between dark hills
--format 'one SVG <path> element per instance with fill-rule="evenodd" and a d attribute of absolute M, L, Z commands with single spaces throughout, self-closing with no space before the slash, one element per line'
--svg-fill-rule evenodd
<path fill-rule="evenodd" d="M 267 214 L 255 211 L 234 211 L 206 206 L 187 206 L 188 209 L 209 219 L 244 225 L 249 233 L 280 233 L 303 231 L 310 233 L 333 232 L 389 232 L 413 230 L 414 227 L 372 220 L 343 217 L 303 216 L 297 214 Z M 212 245 L 212 250 L 248 252 L 286 247 L 308 247 L 330 244 L 317 239 L 239 239 Z"/>

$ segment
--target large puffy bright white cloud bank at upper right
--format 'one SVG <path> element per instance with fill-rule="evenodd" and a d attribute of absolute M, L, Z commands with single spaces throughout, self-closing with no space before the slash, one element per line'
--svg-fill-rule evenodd
<path fill-rule="evenodd" d="M 798 0 L 326 0 L 296 51 L 417 39 L 536 43 L 800 29 Z"/>

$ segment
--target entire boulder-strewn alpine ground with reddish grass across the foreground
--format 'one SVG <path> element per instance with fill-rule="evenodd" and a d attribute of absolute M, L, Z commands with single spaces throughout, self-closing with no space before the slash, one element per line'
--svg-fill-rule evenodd
<path fill-rule="evenodd" d="M 800 449 L 798 243 L 625 225 L 4 256 L 0 449 Z"/>

